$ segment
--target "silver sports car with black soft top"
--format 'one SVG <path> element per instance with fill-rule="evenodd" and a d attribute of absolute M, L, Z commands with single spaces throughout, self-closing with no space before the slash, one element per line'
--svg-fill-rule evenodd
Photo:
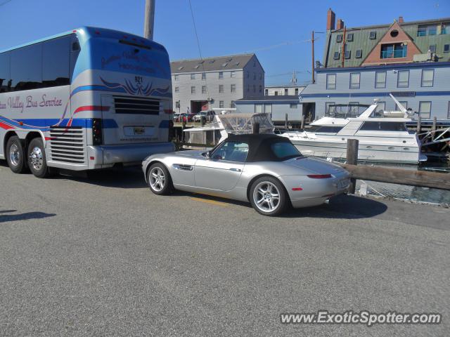
<path fill-rule="evenodd" d="M 323 204 L 350 183 L 340 166 L 304 157 L 288 138 L 273 134 L 229 135 L 209 152 L 153 154 L 142 169 L 155 194 L 176 189 L 250 201 L 265 216 Z"/>

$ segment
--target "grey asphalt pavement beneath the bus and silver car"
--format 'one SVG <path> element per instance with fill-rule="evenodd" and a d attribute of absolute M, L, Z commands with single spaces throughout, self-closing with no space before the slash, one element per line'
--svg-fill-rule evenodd
<path fill-rule="evenodd" d="M 0 336 L 449 336 L 450 210 L 342 196 L 260 216 L 152 194 L 139 169 L 47 180 L 0 161 Z M 439 312 L 438 325 L 281 324 Z"/>

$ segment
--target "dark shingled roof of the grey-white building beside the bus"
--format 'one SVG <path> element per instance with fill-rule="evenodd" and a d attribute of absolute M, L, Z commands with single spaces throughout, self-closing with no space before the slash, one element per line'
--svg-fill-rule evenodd
<path fill-rule="evenodd" d="M 215 56 L 212 58 L 195 58 L 170 62 L 172 74 L 184 72 L 220 72 L 222 70 L 242 69 L 255 54 Z"/>

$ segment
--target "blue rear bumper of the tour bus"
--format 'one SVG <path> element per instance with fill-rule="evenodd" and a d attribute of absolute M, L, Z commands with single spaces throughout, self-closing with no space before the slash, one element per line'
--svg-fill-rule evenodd
<path fill-rule="evenodd" d="M 173 152 L 172 142 L 88 146 L 89 169 L 105 169 L 114 164 L 141 164 L 150 154 Z"/>

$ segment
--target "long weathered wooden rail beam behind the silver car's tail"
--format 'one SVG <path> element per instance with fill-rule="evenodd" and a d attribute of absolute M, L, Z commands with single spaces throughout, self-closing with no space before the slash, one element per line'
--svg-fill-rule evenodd
<path fill-rule="evenodd" d="M 410 171 L 377 166 L 338 165 L 349 171 L 351 177 L 355 179 L 450 190 L 450 173 Z"/>

